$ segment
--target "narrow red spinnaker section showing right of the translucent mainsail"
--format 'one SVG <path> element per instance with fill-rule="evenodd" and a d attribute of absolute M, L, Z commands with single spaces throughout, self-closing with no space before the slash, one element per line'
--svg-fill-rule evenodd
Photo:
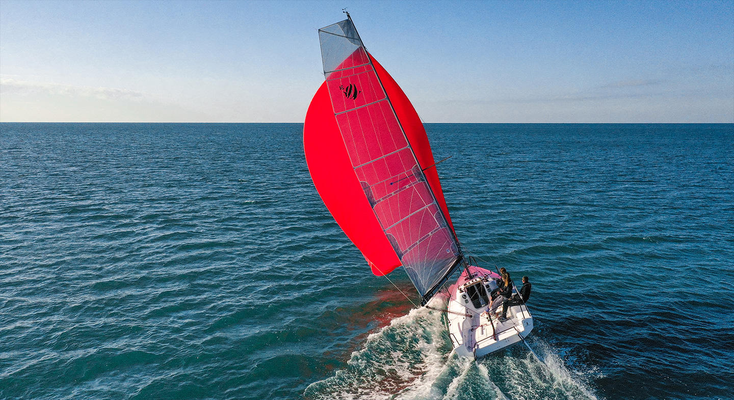
<path fill-rule="evenodd" d="M 421 168 L 424 169 L 426 181 L 431 187 L 431 190 L 433 190 L 433 195 L 436 197 L 436 201 L 441 207 L 443 215 L 446 216 L 448 226 L 451 226 L 451 230 L 454 231 L 454 223 L 451 223 L 451 217 L 448 215 L 448 207 L 446 207 L 446 199 L 443 198 L 443 190 L 441 190 L 441 182 L 438 179 L 438 171 L 435 167 L 429 168 L 433 166 L 435 160 L 431 152 L 431 144 L 429 144 L 428 136 L 426 135 L 426 128 L 423 126 L 423 122 L 421 122 L 421 117 L 418 116 L 413 104 L 410 103 L 403 89 L 398 86 L 388 71 L 371 54 L 368 56 L 372 60 L 379 80 L 382 81 L 385 92 L 390 97 L 390 103 L 393 104 L 395 114 L 400 120 L 405 136 L 410 141 L 410 147 L 413 147 L 415 158 L 418 160 Z"/>

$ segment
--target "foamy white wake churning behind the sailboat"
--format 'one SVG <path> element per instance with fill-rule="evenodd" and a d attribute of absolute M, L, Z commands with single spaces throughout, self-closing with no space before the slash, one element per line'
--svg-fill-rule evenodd
<path fill-rule="evenodd" d="M 462 400 L 592 399 L 582 374 L 570 371 L 552 347 L 537 359 L 520 346 L 479 361 L 451 352 L 442 314 L 418 308 L 393 319 L 352 352 L 346 368 L 313 382 L 305 399 Z M 542 360 L 542 361 L 541 361 Z"/>

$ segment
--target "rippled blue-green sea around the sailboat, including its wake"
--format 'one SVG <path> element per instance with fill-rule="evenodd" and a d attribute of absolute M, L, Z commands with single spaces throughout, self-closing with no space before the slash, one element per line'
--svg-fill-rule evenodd
<path fill-rule="evenodd" d="M 450 355 L 302 125 L 4 123 L 0 399 L 734 399 L 734 125 L 426 128 L 540 360 Z"/>

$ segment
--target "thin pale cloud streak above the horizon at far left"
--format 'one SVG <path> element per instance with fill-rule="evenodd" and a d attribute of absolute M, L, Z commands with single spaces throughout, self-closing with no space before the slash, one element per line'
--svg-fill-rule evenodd
<path fill-rule="evenodd" d="M 112 87 L 75 86 L 52 84 L 48 82 L 19 81 L 13 78 L 0 78 L 0 93 L 20 95 L 61 95 L 95 97 L 100 100 L 145 100 L 142 92 Z"/>

